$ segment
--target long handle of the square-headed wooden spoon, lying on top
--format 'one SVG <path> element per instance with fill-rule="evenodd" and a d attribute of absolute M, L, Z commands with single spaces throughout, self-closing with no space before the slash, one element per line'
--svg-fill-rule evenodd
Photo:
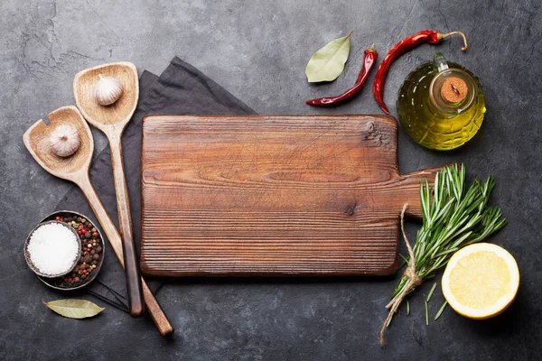
<path fill-rule="evenodd" d="M 115 179 L 115 191 L 117 193 L 118 224 L 122 235 L 122 249 L 126 270 L 126 290 L 128 292 L 128 303 L 132 317 L 139 317 L 145 311 L 143 302 L 143 291 L 141 287 L 141 272 L 137 262 L 137 252 L 132 228 L 132 217 L 130 214 L 130 201 L 124 165 L 122 162 L 122 143 L 120 135 L 115 139 L 109 139 L 111 147 L 111 163 L 113 165 L 113 178 Z"/>

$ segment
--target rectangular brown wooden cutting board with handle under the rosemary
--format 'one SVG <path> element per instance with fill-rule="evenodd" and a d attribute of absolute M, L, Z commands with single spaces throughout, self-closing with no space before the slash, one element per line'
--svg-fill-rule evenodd
<path fill-rule="evenodd" d="M 391 116 L 150 116 L 143 125 L 143 273 L 397 271 L 401 208 Z"/>

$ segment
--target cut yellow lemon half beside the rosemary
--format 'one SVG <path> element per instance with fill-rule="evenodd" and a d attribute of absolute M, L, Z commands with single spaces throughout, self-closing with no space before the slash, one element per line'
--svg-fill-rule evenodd
<path fill-rule="evenodd" d="M 442 285 L 453 310 L 470 319 L 489 319 L 516 298 L 518 264 L 499 245 L 467 245 L 450 258 Z"/>

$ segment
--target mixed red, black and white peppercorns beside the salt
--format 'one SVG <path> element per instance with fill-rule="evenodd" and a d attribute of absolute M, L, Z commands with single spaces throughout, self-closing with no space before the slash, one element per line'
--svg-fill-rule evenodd
<path fill-rule="evenodd" d="M 55 218 L 58 221 L 67 223 L 73 227 L 79 235 L 81 242 L 81 255 L 78 264 L 71 273 L 53 279 L 57 287 L 72 288 L 89 282 L 92 273 L 97 272 L 97 267 L 103 253 L 103 241 L 99 236 L 98 229 L 88 219 L 79 216 L 68 216 Z"/>

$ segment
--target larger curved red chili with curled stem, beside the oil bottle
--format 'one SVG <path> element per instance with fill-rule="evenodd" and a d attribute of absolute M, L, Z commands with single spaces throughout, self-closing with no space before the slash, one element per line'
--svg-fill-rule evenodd
<path fill-rule="evenodd" d="M 386 103 L 384 103 L 383 97 L 384 83 L 386 82 L 386 77 L 388 76 L 388 70 L 391 63 L 398 57 L 406 53 L 406 51 L 411 51 L 421 43 L 428 42 L 430 44 L 438 44 L 448 36 L 455 34 L 463 36 L 463 42 L 465 43 L 465 45 L 463 46 L 463 48 L 461 48 L 461 50 L 466 51 L 468 48 L 467 38 L 465 37 L 465 34 L 463 34 L 463 32 L 448 32 L 444 34 L 442 32 L 435 32 L 435 30 L 423 30 L 421 32 L 416 32 L 414 35 L 405 38 L 401 42 L 397 42 L 397 44 L 393 48 L 391 48 L 390 51 L 388 51 L 388 55 L 386 55 L 386 58 L 384 58 L 384 60 L 382 60 L 382 62 L 378 66 L 377 75 L 375 77 L 375 82 L 373 85 L 373 93 L 375 99 L 378 102 L 378 106 L 380 106 L 384 113 L 389 114 L 388 106 L 386 106 Z"/>

